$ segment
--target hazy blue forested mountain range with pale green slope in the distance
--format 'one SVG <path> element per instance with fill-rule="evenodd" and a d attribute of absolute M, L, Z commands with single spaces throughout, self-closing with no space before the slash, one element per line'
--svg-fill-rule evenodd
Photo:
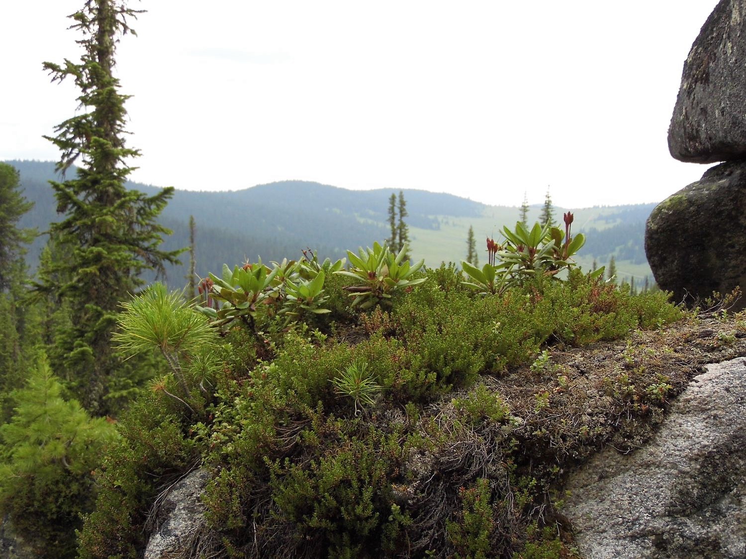
<path fill-rule="evenodd" d="M 34 208 L 20 225 L 46 231 L 50 222 L 60 220 L 48 185 L 48 180 L 60 180 L 54 162 L 6 162 L 18 169 L 24 195 L 34 202 Z M 128 188 L 150 194 L 158 190 L 139 183 L 128 183 Z M 208 271 L 219 271 L 224 262 L 255 262 L 259 256 L 265 262 L 284 257 L 297 259 L 301 249 L 307 247 L 318 250 L 322 258 L 342 258 L 345 250 L 370 246 L 389 236 L 387 211 L 392 192 L 347 190 L 299 180 L 234 192 L 177 190 L 160 218 L 173 231 L 164 239 L 163 248 L 173 250 L 189 245 L 189 215 L 193 215 L 200 277 Z M 495 198 L 498 197 L 496 192 Z M 470 226 L 474 227 L 477 249 L 486 259 L 483 239 L 501 239 L 503 225 L 513 227 L 518 220 L 518 208 L 512 206 L 488 206 L 454 195 L 413 189 L 404 189 L 404 198 L 412 256 L 424 258 L 433 267 L 442 261 L 460 262 L 466 257 Z M 645 220 L 654 206 L 648 203 L 571 209 L 575 215 L 574 233 L 583 232 L 587 237 L 577 259 L 580 265 L 585 269 L 594 261 L 604 265 L 613 255 L 621 279 L 634 277 L 637 283 L 650 276 L 643 239 Z M 539 205 L 531 206 L 530 222 L 538 219 L 540 209 Z M 554 208 L 558 221 L 566 211 Z M 27 259 L 32 269 L 45 242 L 46 236 L 42 235 L 29 250 Z M 168 281 L 173 287 L 186 284 L 189 257 L 184 255 L 182 261 L 184 264 L 168 269 Z"/>

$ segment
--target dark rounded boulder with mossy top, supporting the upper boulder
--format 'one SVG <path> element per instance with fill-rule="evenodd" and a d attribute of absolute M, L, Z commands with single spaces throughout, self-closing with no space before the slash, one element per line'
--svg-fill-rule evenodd
<path fill-rule="evenodd" d="M 645 227 L 645 253 L 675 301 L 746 288 L 746 162 L 717 165 L 659 203 Z"/>

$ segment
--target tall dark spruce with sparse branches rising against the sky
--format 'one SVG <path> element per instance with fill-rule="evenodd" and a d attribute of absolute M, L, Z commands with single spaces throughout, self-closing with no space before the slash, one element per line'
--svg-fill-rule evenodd
<path fill-rule="evenodd" d="M 74 162 L 81 166 L 75 178 L 51 182 L 57 212 L 66 215 L 51 232 L 73 247 L 72 258 L 54 266 L 69 281 L 39 288 L 69 300 L 74 331 L 57 338 L 65 359 L 54 363 L 54 370 L 66 370 L 75 394 L 95 414 L 110 411 L 105 403 L 110 380 L 117 371 L 125 374 L 110 343 L 119 303 L 142 285 L 142 271 L 163 275 L 164 262 L 178 262 L 179 253 L 159 250 L 161 236 L 170 231 L 155 221 L 173 189 L 154 196 L 125 189 L 132 171 L 126 161 L 140 152 L 125 145 L 128 95 L 119 92 L 113 69 L 119 37 L 134 34 L 129 21 L 137 13 L 119 0 L 85 1 L 70 16 L 71 28 L 83 35 L 77 41 L 84 48 L 81 61 L 44 63 L 52 81 L 71 78 L 81 91 L 82 110 L 59 124 L 56 136 L 46 136 L 62 152 L 57 169 L 63 177 Z"/>

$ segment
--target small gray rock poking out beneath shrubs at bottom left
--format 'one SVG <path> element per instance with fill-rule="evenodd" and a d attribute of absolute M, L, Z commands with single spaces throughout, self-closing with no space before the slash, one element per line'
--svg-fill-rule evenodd
<path fill-rule="evenodd" d="M 198 556 L 204 528 L 204 505 L 200 496 L 208 479 L 210 476 L 204 470 L 194 470 L 160 500 L 145 559 Z M 193 552 L 197 552 L 196 555 Z"/>

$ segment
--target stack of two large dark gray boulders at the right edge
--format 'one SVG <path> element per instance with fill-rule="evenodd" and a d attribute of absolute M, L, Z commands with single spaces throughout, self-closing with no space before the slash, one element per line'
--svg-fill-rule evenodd
<path fill-rule="evenodd" d="M 656 282 L 676 300 L 746 288 L 746 0 L 721 0 L 692 45 L 668 148 L 677 160 L 727 163 L 653 210 L 645 252 Z"/>

